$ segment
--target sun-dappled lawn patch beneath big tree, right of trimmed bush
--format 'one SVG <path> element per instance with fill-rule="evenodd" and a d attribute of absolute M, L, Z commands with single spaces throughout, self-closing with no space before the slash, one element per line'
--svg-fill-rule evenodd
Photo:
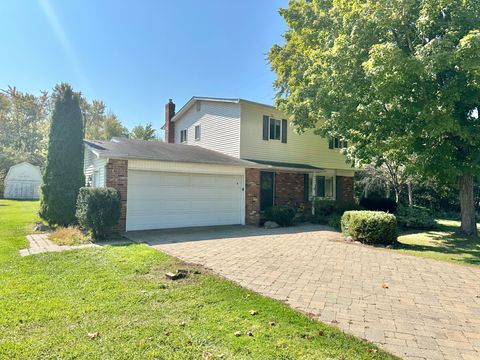
<path fill-rule="evenodd" d="M 458 262 L 480 265 L 480 240 L 457 233 L 458 225 L 453 223 L 438 223 L 433 229 L 400 231 L 397 249 L 418 252 L 434 252 L 445 255 L 455 255 Z M 403 236 L 413 237 L 411 241 L 401 242 Z M 404 240 L 406 241 L 406 240 Z"/>

